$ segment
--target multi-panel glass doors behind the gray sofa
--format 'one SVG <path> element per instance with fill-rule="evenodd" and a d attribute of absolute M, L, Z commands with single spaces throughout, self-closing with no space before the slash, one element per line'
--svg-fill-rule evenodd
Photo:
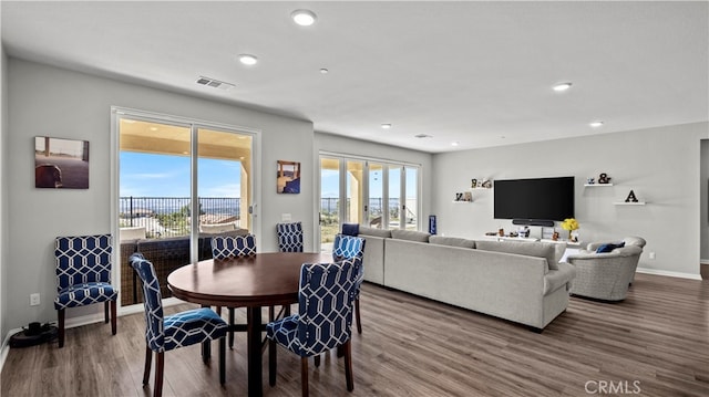
<path fill-rule="evenodd" d="M 320 156 L 320 245 L 328 251 L 345 222 L 418 230 L 419 167 Z"/>

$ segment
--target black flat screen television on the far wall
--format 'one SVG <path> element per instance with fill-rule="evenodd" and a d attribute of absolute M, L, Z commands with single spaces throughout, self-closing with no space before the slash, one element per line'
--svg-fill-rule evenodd
<path fill-rule="evenodd" d="M 493 190 L 495 219 L 551 226 L 574 218 L 574 177 L 499 179 Z"/>

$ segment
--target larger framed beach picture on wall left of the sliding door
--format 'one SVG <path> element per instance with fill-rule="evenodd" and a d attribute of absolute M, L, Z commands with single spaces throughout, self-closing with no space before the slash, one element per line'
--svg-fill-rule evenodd
<path fill-rule="evenodd" d="M 34 187 L 89 189 L 89 140 L 34 137 Z"/>

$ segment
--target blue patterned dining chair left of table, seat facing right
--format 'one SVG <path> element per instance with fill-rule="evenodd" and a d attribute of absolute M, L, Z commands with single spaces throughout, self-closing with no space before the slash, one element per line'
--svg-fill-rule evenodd
<path fill-rule="evenodd" d="M 155 385 L 153 396 L 163 395 L 163 372 L 165 369 L 165 352 L 197 343 L 219 339 L 219 383 L 226 380 L 226 331 L 228 325 L 212 309 L 202 307 L 181 313 L 164 315 L 160 283 L 153 263 L 143 254 L 134 253 L 130 258 L 131 265 L 143 284 L 143 304 L 145 305 L 145 370 L 143 386 L 148 384 L 151 363 L 155 352 Z M 203 355 L 205 364 L 208 355 Z"/>

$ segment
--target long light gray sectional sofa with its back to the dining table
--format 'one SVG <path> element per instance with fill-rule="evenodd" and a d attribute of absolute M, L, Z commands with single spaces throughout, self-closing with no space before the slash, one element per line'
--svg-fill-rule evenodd
<path fill-rule="evenodd" d="M 360 227 L 364 280 L 542 331 L 568 305 L 566 244 Z"/>

